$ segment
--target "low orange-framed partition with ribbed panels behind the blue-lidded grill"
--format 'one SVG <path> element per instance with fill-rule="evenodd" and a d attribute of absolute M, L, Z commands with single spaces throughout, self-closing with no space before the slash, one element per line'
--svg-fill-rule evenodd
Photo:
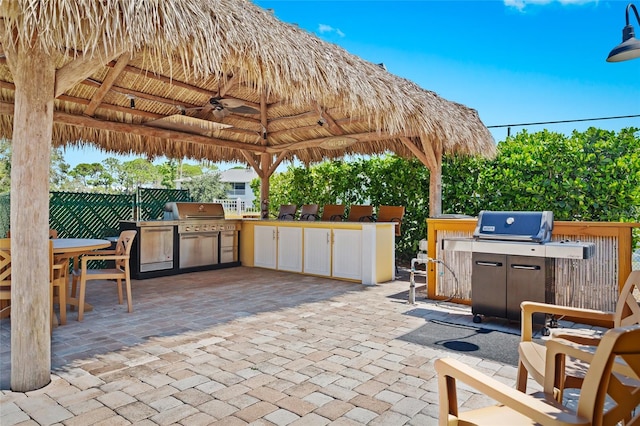
<path fill-rule="evenodd" d="M 471 304 L 471 253 L 442 250 L 446 238 L 471 238 L 477 219 L 427 219 L 427 297 Z M 564 222 L 553 224 L 552 240 L 593 242 L 591 259 L 556 259 L 555 303 L 612 311 L 632 270 L 632 229 L 640 223 Z"/>

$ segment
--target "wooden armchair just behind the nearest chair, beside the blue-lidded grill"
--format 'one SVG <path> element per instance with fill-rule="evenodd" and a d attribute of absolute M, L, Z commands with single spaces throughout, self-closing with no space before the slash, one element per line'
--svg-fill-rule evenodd
<path fill-rule="evenodd" d="M 545 364 L 548 359 L 546 347 L 533 341 L 533 314 L 568 316 L 576 319 L 596 320 L 598 322 L 613 323 L 613 327 L 640 324 L 640 306 L 633 296 L 635 288 L 640 288 L 640 271 L 632 271 L 618 296 L 615 312 L 604 312 L 594 309 L 573 308 L 538 302 L 522 302 L 521 341 L 518 345 L 520 361 L 518 363 L 518 378 L 516 387 L 526 391 L 527 379 L 530 375 L 536 382 L 543 384 Z M 553 336 L 562 337 L 583 345 L 597 345 L 600 336 L 578 333 L 576 329 L 553 329 Z M 561 401 L 565 388 L 581 388 L 587 365 L 567 359 L 565 372 L 556 378 L 557 397 Z"/>

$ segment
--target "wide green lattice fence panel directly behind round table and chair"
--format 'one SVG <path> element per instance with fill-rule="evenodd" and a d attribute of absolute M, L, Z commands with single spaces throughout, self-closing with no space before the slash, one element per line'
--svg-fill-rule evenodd
<path fill-rule="evenodd" d="M 120 221 L 132 220 L 135 195 L 52 192 L 49 226 L 61 238 L 103 238 L 120 234 Z"/>

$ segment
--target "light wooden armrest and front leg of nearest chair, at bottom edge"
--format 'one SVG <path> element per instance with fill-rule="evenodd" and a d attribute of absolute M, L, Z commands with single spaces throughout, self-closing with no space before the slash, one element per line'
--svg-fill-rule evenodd
<path fill-rule="evenodd" d="M 456 380 L 482 392 L 541 424 L 589 424 L 587 419 L 578 417 L 567 407 L 552 398 L 534 398 L 515 388 L 489 377 L 462 362 L 451 358 L 440 358 L 435 361 L 438 373 L 438 393 L 440 396 L 440 418 L 446 414 L 458 415 Z M 443 410 L 448 410 L 444 411 Z M 442 424 L 442 423 L 441 423 Z"/>

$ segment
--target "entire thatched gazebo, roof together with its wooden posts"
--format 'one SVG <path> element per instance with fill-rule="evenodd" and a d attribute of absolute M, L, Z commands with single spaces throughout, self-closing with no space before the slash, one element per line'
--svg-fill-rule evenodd
<path fill-rule="evenodd" d="M 0 136 L 12 139 L 11 387 L 50 380 L 51 143 L 243 161 L 262 180 L 387 150 L 431 170 L 491 155 L 476 111 L 325 43 L 246 0 L 0 1 Z M 267 197 L 267 198 L 265 198 Z"/>

